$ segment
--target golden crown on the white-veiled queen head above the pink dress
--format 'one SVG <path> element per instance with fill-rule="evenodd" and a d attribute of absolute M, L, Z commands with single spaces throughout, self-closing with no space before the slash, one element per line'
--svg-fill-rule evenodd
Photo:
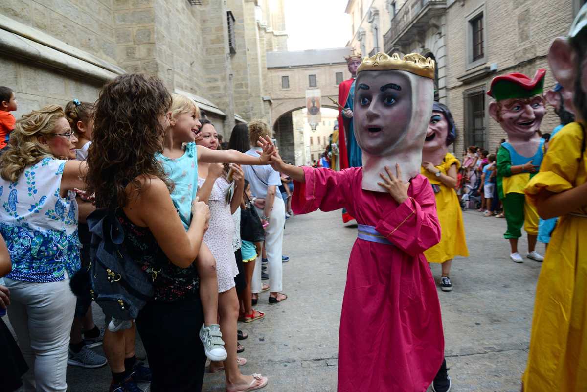
<path fill-rule="evenodd" d="M 377 53 L 370 58 L 364 58 L 363 62 L 357 69 L 361 71 L 406 71 L 418 76 L 428 77 L 434 80 L 434 60 L 424 58 L 418 53 L 405 55 L 403 59 L 397 53 L 387 56 L 385 53 Z"/>

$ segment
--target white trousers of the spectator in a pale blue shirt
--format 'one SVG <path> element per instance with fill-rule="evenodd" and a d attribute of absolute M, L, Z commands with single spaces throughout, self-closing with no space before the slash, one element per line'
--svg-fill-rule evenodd
<path fill-rule="evenodd" d="M 255 207 L 257 208 L 257 207 Z M 263 216 L 263 211 L 257 208 L 259 217 Z M 283 290 L 283 265 L 282 265 L 282 245 L 284 242 L 284 224 L 285 224 L 285 204 L 281 198 L 275 196 L 273 209 L 269 214 L 269 225 L 265 228 L 265 252 L 269 262 L 269 286 L 271 292 L 280 292 Z M 253 293 L 261 292 L 261 258 L 255 261 L 255 271 L 251 281 L 251 291 Z"/>

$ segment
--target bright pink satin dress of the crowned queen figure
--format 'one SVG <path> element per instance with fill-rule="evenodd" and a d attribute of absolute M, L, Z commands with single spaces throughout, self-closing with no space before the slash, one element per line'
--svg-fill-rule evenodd
<path fill-rule="evenodd" d="M 359 239 L 350 253 L 340 316 L 338 392 L 424 392 L 444 357 L 436 285 L 423 252 L 440 241 L 436 201 L 423 175 L 409 199 L 364 191 L 363 168 L 304 167 L 292 209 L 306 214 L 345 207 L 357 223 L 393 243 Z"/>

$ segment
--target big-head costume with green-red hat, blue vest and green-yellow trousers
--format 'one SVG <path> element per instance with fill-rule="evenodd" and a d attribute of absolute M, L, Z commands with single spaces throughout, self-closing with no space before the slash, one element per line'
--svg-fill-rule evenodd
<path fill-rule="evenodd" d="M 518 72 L 497 76 L 487 93 L 495 99 L 489 106 L 490 116 L 507 134 L 497 153 L 497 188 L 508 223 L 506 239 L 521 237 L 522 226 L 528 235 L 538 234 L 538 214 L 525 203 L 524 188 L 544 156 L 544 140 L 538 130 L 545 114 L 545 75 L 545 69 L 538 69 L 532 79 Z M 530 162 L 534 168 L 521 170 Z"/>

